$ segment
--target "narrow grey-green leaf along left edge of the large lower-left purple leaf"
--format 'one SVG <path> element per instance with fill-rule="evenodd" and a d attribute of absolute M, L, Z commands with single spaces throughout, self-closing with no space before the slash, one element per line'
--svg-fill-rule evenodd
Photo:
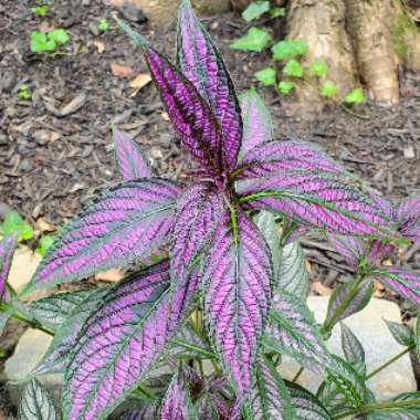
<path fill-rule="evenodd" d="M 56 325 L 55 323 L 53 324 L 56 327 L 54 338 L 41 361 L 32 371 L 32 376 L 63 371 L 65 365 L 67 364 L 67 359 L 77 343 L 77 337 L 83 324 L 92 315 L 92 313 L 97 309 L 104 296 L 109 293 L 109 287 L 101 287 L 88 292 L 90 293 L 86 294 L 84 298 L 73 306 L 64 322 L 60 325 Z M 45 314 L 41 317 L 42 321 L 44 315 Z M 57 317 L 53 315 L 52 318 L 56 319 Z"/>

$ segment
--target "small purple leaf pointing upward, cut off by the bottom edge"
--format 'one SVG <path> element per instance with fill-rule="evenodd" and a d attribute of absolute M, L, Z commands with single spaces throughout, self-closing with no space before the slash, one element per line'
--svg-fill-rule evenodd
<path fill-rule="evenodd" d="M 192 402 L 182 372 L 174 376 L 162 401 L 161 420 L 190 420 Z"/>

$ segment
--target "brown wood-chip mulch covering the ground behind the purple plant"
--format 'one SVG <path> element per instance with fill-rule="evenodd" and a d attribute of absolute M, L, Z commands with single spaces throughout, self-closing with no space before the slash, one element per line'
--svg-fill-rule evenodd
<path fill-rule="evenodd" d="M 129 87 L 129 82 L 147 70 L 140 53 L 112 22 L 112 7 L 91 0 L 55 1 L 42 19 L 30 11 L 33 3 L 3 0 L 0 4 L 0 218 L 12 208 L 33 225 L 43 218 L 60 227 L 92 199 L 94 191 L 115 185 L 118 176 L 111 124 L 135 136 L 158 174 L 182 177 L 191 159 L 174 138 L 155 88 L 149 84 L 136 93 Z M 103 17 L 109 18 L 111 29 L 99 33 L 97 23 Z M 253 73 L 269 64 L 270 57 L 229 49 L 246 30 L 240 15 L 206 18 L 204 24 L 224 53 L 238 91 L 254 86 Z M 67 29 L 69 45 L 49 56 L 31 54 L 30 32 L 49 27 Z M 150 21 L 138 29 L 172 55 L 175 22 Z M 113 64 L 122 65 L 125 72 L 132 69 L 132 73 L 116 76 Z M 255 86 L 270 106 L 279 137 L 322 145 L 363 180 L 364 188 L 398 200 L 420 188 L 420 75 L 401 74 L 400 82 L 401 103 L 391 108 L 367 104 L 360 109 L 369 115 L 367 119 L 336 106 L 316 119 L 293 116 L 287 101 Z M 31 101 L 18 97 L 20 85 L 29 86 Z M 67 104 L 74 107 L 62 115 L 69 111 Z M 304 245 L 314 282 L 332 287 L 351 274 L 327 244 L 305 239 Z M 402 260 L 396 263 L 420 267 L 418 249 L 403 251 Z M 409 305 L 401 307 L 410 313 Z M 0 339 L 1 349 L 10 335 L 14 342 L 19 336 L 12 325 Z"/>

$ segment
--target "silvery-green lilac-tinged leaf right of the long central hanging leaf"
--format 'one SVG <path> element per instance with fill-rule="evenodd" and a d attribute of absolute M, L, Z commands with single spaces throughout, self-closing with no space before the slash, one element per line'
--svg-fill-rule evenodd
<path fill-rule="evenodd" d="M 313 314 L 302 297 L 281 288 L 273 296 L 264 345 L 295 358 L 316 374 L 329 366 L 329 353 Z"/>

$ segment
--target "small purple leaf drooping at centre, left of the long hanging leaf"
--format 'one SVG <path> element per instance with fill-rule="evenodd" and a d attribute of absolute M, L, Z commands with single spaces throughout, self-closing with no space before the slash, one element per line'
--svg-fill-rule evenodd
<path fill-rule="evenodd" d="M 223 196 L 211 185 L 193 185 L 179 196 L 170 262 L 177 281 L 185 277 L 191 265 L 197 263 L 200 252 L 212 241 L 222 211 Z"/>

